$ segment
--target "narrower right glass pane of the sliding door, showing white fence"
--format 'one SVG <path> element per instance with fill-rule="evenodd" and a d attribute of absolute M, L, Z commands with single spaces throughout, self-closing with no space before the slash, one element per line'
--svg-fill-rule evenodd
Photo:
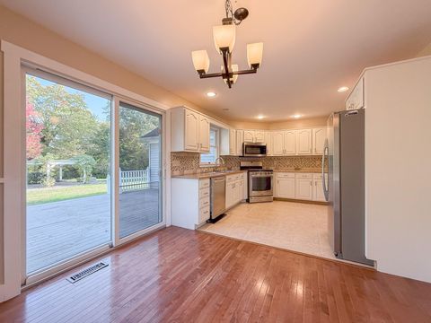
<path fill-rule="evenodd" d="M 119 103 L 119 239 L 161 223 L 162 117 Z"/>

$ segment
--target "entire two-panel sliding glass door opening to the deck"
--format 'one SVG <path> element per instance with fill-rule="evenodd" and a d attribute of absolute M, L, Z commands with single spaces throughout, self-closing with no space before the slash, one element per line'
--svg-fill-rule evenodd
<path fill-rule="evenodd" d="M 163 114 L 23 70 L 25 284 L 163 226 Z"/>

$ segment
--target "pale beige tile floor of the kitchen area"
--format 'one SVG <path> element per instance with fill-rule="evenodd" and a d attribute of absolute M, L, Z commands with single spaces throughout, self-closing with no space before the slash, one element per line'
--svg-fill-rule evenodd
<path fill-rule="evenodd" d="M 328 206 L 294 202 L 244 203 L 199 230 L 257 242 L 321 258 L 336 259 L 330 249 Z"/>

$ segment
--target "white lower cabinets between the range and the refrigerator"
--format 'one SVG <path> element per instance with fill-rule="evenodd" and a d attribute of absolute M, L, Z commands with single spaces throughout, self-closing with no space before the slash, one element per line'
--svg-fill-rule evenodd
<path fill-rule="evenodd" d="M 276 172 L 274 197 L 325 202 L 319 173 Z"/>

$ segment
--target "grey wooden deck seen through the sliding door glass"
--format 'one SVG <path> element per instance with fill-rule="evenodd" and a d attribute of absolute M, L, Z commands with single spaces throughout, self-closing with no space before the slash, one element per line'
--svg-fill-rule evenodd
<path fill-rule="evenodd" d="M 120 238 L 161 222 L 158 189 L 119 195 Z M 110 196 L 75 198 L 27 208 L 27 272 L 110 243 Z"/>

